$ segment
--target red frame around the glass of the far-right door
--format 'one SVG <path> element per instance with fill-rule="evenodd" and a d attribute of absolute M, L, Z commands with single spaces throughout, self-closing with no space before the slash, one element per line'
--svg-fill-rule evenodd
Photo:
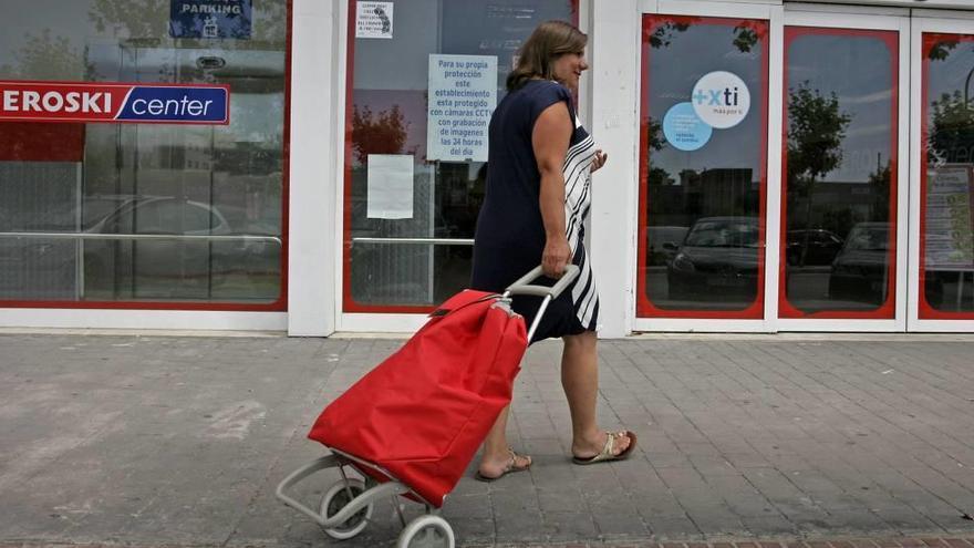
<path fill-rule="evenodd" d="M 974 320 L 974 312 L 944 312 L 933 308 L 926 300 L 926 152 L 930 136 L 930 89 L 926 85 L 930 76 L 930 50 L 941 41 L 974 42 L 974 34 L 954 34 L 945 32 L 924 32 L 921 55 L 921 105 L 920 105 L 920 269 L 916 277 L 918 316 L 921 320 Z M 972 204 L 974 208 L 974 204 Z"/>

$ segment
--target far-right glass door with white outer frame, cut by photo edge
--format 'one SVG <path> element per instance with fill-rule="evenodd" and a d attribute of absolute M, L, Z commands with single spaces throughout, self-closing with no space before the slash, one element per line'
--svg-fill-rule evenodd
<path fill-rule="evenodd" d="M 940 14 L 940 13 L 937 13 Z M 974 21 L 913 20 L 911 330 L 974 330 Z"/>

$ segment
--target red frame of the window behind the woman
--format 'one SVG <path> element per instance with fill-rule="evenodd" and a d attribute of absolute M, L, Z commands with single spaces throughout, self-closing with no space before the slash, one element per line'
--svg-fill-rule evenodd
<path fill-rule="evenodd" d="M 572 24 L 579 24 L 579 1 L 569 0 Z M 354 114 L 355 82 L 355 14 L 358 0 L 349 0 L 348 61 L 345 69 L 345 146 L 344 185 L 342 190 L 342 312 L 351 313 L 416 313 L 432 312 L 435 306 L 363 304 L 352 298 L 352 117 Z M 591 48 L 591 40 L 589 41 Z"/>

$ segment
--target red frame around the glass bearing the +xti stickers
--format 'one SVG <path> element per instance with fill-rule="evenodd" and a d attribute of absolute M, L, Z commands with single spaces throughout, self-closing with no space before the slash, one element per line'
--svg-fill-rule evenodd
<path fill-rule="evenodd" d="M 646 271 L 643 268 L 646 261 L 645 238 L 639 238 L 639 252 L 636 254 L 636 316 L 640 318 L 672 318 L 672 319 L 763 319 L 765 309 L 765 242 L 767 240 L 767 193 L 768 193 L 768 92 L 769 92 L 769 40 L 770 22 L 761 19 L 729 19 L 718 17 L 688 17 L 688 15 L 661 15 L 644 14 L 642 24 L 642 63 L 640 65 L 640 84 L 642 86 L 640 97 L 640 190 L 639 190 L 639 230 L 640 234 L 646 227 L 649 207 L 649 111 L 650 111 L 650 37 L 653 31 L 667 22 L 673 23 L 705 23 L 712 25 L 747 28 L 758 32 L 761 43 L 761 93 L 760 127 L 760 201 L 758 206 L 758 266 L 757 266 L 757 293 L 755 300 L 743 310 L 666 310 L 656 307 L 646 294 Z"/>

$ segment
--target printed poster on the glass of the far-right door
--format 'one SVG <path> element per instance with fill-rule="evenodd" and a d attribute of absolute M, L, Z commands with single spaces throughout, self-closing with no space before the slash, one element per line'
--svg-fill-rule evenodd
<path fill-rule="evenodd" d="M 947 165 L 926 176 L 925 250 L 930 270 L 974 268 L 972 166 Z"/>

